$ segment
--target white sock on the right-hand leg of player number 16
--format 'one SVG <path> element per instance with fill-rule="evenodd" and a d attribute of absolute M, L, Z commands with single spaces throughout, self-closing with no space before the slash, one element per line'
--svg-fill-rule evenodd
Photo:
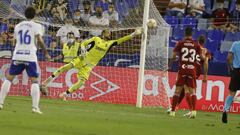
<path fill-rule="evenodd" d="M 40 90 L 39 84 L 33 83 L 31 86 L 31 96 L 32 96 L 32 107 L 35 109 L 39 109 L 39 100 L 40 100 Z"/>

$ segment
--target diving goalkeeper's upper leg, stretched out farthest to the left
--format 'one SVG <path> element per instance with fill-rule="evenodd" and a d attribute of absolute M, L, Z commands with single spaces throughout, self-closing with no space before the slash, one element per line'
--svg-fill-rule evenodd
<path fill-rule="evenodd" d="M 70 70 L 74 67 L 72 63 L 68 63 L 59 69 L 57 69 L 50 77 L 48 77 L 45 81 L 43 81 L 42 85 L 46 86 L 49 82 L 51 82 L 55 77 L 59 76 L 63 72 Z"/>

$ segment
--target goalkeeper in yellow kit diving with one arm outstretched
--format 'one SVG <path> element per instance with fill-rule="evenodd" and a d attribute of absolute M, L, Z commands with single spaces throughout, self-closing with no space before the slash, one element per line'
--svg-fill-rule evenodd
<path fill-rule="evenodd" d="M 128 41 L 135 36 L 142 34 L 142 29 L 138 28 L 130 35 L 124 36 L 117 40 L 110 40 L 111 32 L 109 30 L 103 30 L 100 37 L 92 37 L 81 43 L 81 55 L 74 58 L 70 63 L 60 67 L 56 70 L 47 80 L 42 83 L 42 88 L 46 88 L 47 84 L 51 82 L 55 77 L 61 73 L 70 70 L 72 68 L 78 69 L 78 81 L 72 87 L 65 92 L 61 93 L 59 97 L 63 100 L 67 99 L 67 95 L 78 90 L 85 81 L 88 80 L 92 69 L 98 64 L 98 62 L 109 52 L 111 47 L 119 45 L 125 41 Z"/>

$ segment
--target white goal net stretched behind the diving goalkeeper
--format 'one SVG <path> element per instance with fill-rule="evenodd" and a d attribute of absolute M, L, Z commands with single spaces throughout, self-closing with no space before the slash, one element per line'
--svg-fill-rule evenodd
<path fill-rule="evenodd" d="M 82 1 L 69 0 L 62 7 L 61 11 L 58 11 L 60 8 L 57 7 L 60 4 L 48 3 L 45 4 L 45 9 L 51 6 L 48 12 L 44 12 L 42 8 L 44 4 L 24 2 L 25 0 L 14 0 L 12 2 L 2 0 L 0 2 L 1 33 L 8 36 L 7 38 L 1 36 L 0 40 L 2 45 L 0 48 L 0 77 L 2 81 L 8 72 L 11 52 L 14 49 L 11 35 L 13 27 L 24 20 L 24 10 L 28 5 L 33 5 L 38 9 L 38 16 L 35 21 L 44 26 L 44 41 L 52 56 L 52 61 L 46 61 L 41 50 L 37 53 L 41 81 L 49 77 L 57 68 L 64 65 L 63 58 L 60 57 L 62 55 L 62 45 L 57 42 L 56 33 L 61 27 L 66 25 L 65 20 L 69 18 L 66 16 L 70 16 L 74 22 L 73 25 L 79 30 L 80 40 L 91 37 L 89 33 L 94 30 L 110 29 L 112 38 L 117 39 L 132 33 L 135 28 L 144 27 L 144 0 L 114 1 L 119 20 L 114 25 L 109 25 L 108 27 L 94 27 L 84 22 L 84 20 L 78 23 L 79 19 L 74 17 L 74 12 L 80 9 L 80 14 L 83 14 L 83 9 L 81 9 L 83 8 Z M 91 4 L 97 5 L 99 3 L 92 2 Z M 100 5 L 103 6 L 104 10 L 104 4 L 100 3 Z M 96 6 L 91 6 L 91 8 L 94 10 Z M 54 12 L 55 9 L 58 13 Z M 85 85 L 69 95 L 69 99 L 136 105 L 138 92 L 141 92 L 142 99 L 140 98 L 140 102 L 143 106 L 169 106 L 167 67 L 170 27 L 163 20 L 152 0 L 150 0 L 149 18 L 157 21 L 157 28 L 148 29 L 147 34 L 143 37 L 137 37 L 122 45 L 113 47 L 93 69 Z M 142 44 L 144 38 L 147 40 L 146 49 L 142 48 L 144 46 Z M 143 54 L 145 54 L 144 57 L 141 56 Z M 143 65 L 144 76 L 140 76 L 139 73 L 141 71 L 139 70 L 140 61 L 145 61 Z M 67 90 L 77 81 L 77 73 L 76 69 L 71 69 L 53 80 L 48 85 L 50 95 L 47 98 L 58 98 L 61 92 Z M 142 91 L 138 90 L 139 77 L 143 79 Z M 13 84 L 10 95 L 29 96 L 31 82 L 26 72 L 16 77 Z"/>

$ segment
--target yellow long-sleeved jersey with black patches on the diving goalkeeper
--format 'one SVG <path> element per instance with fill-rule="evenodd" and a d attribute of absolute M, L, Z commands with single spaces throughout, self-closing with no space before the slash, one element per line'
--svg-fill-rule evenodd
<path fill-rule="evenodd" d="M 100 37 L 92 37 L 82 42 L 81 46 L 87 49 L 85 61 L 92 66 L 96 66 L 98 62 L 108 53 L 111 47 L 119 45 L 127 40 L 132 39 L 131 35 L 122 37 L 117 40 L 103 40 Z"/>

